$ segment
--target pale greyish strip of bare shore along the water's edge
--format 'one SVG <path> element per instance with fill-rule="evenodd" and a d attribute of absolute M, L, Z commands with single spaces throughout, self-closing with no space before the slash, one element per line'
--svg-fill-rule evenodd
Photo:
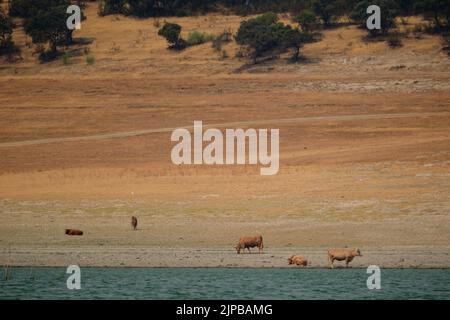
<path fill-rule="evenodd" d="M 370 265 L 382 269 L 449 269 L 447 247 L 395 247 L 365 248 L 363 256 L 356 257 L 350 268 L 365 269 Z M 301 253 L 309 260 L 308 269 L 329 268 L 326 253 L 311 248 L 273 248 L 265 253 L 236 254 L 231 250 L 198 248 L 53 248 L 51 250 L 26 250 L 24 248 L 0 252 L 0 265 L 10 267 L 67 267 L 79 265 L 86 268 L 297 268 L 289 266 L 287 258 Z M 345 268 L 335 262 L 335 268 Z"/>

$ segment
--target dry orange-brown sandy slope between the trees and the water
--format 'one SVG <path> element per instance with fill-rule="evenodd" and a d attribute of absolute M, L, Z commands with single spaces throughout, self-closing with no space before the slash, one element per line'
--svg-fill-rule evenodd
<path fill-rule="evenodd" d="M 234 43 L 226 59 L 210 44 L 175 53 L 153 19 L 99 18 L 93 5 L 87 17 L 75 37 L 91 43 L 69 65 L 37 63 L 21 29 L 23 60 L 0 62 L 0 265 L 283 267 L 301 254 L 324 267 L 328 248 L 348 246 L 363 253 L 353 267 L 450 267 L 438 37 L 392 50 L 347 26 L 305 46 L 304 63 L 241 68 Z M 241 18 L 168 20 L 219 34 Z M 279 174 L 174 166 L 171 130 L 194 120 L 280 129 Z M 264 254 L 237 255 L 256 234 Z"/>

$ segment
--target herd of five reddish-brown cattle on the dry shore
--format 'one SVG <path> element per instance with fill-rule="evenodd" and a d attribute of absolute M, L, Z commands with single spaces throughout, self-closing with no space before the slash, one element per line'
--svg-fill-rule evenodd
<path fill-rule="evenodd" d="M 137 230 L 137 218 L 131 217 L 131 228 L 133 230 Z M 82 236 L 83 231 L 77 229 L 66 229 L 66 235 L 69 236 Z M 239 242 L 234 247 L 238 254 L 241 253 L 241 250 L 248 250 L 250 253 L 250 248 L 258 248 L 258 253 L 261 253 L 264 249 L 263 238 L 261 235 L 255 237 L 242 237 L 239 239 Z M 355 257 L 361 257 L 361 251 L 359 249 L 351 249 L 351 248 L 337 248 L 328 250 L 328 262 L 330 268 L 334 268 L 334 261 L 345 261 L 345 266 L 348 267 L 348 264 L 352 262 Z M 303 266 L 306 267 L 308 265 L 308 260 L 299 255 L 293 255 L 288 258 L 288 263 L 290 265 Z"/>

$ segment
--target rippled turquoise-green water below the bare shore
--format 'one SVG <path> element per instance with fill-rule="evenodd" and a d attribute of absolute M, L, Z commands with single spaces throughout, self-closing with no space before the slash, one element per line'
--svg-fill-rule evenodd
<path fill-rule="evenodd" d="M 0 299 L 450 299 L 450 269 L 386 269 L 368 290 L 365 269 L 65 268 L 0 271 Z"/>

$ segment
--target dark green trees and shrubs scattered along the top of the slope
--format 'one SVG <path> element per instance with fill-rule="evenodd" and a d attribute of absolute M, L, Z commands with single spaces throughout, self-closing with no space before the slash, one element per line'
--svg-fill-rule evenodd
<path fill-rule="evenodd" d="M 39 59 L 43 62 L 61 57 L 58 49 L 71 42 L 72 32 L 65 27 L 66 6 L 74 1 L 70 0 L 11 0 L 11 16 L 25 19 L 25 31 L 31 36 L 35 44 L 42 44 L 39 47 Z M 164 37 L 169 43 L 170 49 L 182 50 L 187 46 L 194 46 L 212 42 L 212 47 L 222 57 L 228 56 L 223 50 L 224 43 L 233 40 L 232 33 L 226 31 L 219 36 L 193 31 L 189 33 L 186 40 L 181 37 L 182 27 L 174 23 L 161 23 L 161 16 L 168 15 L 192 15 L 195 12 L 208 12 L 212 10 L 226 10 L 225 8 L 244 8 L 248 13 L 266 11 L 269 8 L 276 12 L 284 12 L 284 18 L 291 12 L 292 21 L 298 23 L 298 27 L 293 27 L 281 23 L 276 14 L 266 13 L 261 18 L 249 19 L 248 23 L 241 24 L 241 28 L 236 34 L 236 41 L 246 51 L 247 56 L 251 56 L 256 62 L 263 56 L 276 56 L 287 49 L 292 49 L 293 58 L 298 59 L 300 48 L 308 42 L 315 41 L 320 35 L 318 30 L 322 27 L 330 27 L 334 22 L 341 21 L 338 18 L 342 15 L 349 15 L 353 22 L 365 28 L 365 21 L 368 17 L 366 9 L 371 4 L 381 7 L 382 21 L 381 30 L 369 30 L 366 40 L 383 40 L 387 44 L 396 48 L 401 46 L 402 35 L 395 27 L 395 20 L 401 14 L 417 13 L 423 15 L 430 21 L 430 24 L 419 24 L 407 28 L 406 35 L 412 34 L 415 38 L 420 38 L 424 32 L 448 30 L 449 5 L 447 1 L 439 0 L 414 0 L 414 1 L 394 1 L 394 0 L 312 0 L 312 1 L 231 1 L 231 0 L 207 0 L 201 1 L 154 1 L 154 0 L 102 0 L 99 3 L 99 14 L 124 14 L 139 17 L 153 16 L 153 25 L 159 29 L 158 34 Z M 77 3 L 84 3 L 77 1 Z M 221 6 L 216 6 L 220 4 Z M 228 11 L 229 12 L 229 11 Z M 17 52 L 12 40 L 12 27 L 9 26 L 11 19 L 5 14 L 0 19 L 0 54 L 6 52 Z M 9 19 L 9 20 L 8 20 Z M 267 19 L 267 20 L 264 20 Z M 64 20 L 64 22 L 63 22 Z M 321 25 L 321 21 L 323 25 Z M 407 20 L 402 17 L 402 23 Z M 247 29 L 247 30 L 246 30 Z M 391 32 L 394 32 L 391 34 Z M 372 40 L 371 40 L 372 39 Z M 15 49 L 14 49 L 15 48 Z M 119 52 L 115 46 L 112 52 Z M 224 54 L 225 52 L 225 54 Z M 69 63 L 69 58 L 64 54 L 63 62 Z"/>

